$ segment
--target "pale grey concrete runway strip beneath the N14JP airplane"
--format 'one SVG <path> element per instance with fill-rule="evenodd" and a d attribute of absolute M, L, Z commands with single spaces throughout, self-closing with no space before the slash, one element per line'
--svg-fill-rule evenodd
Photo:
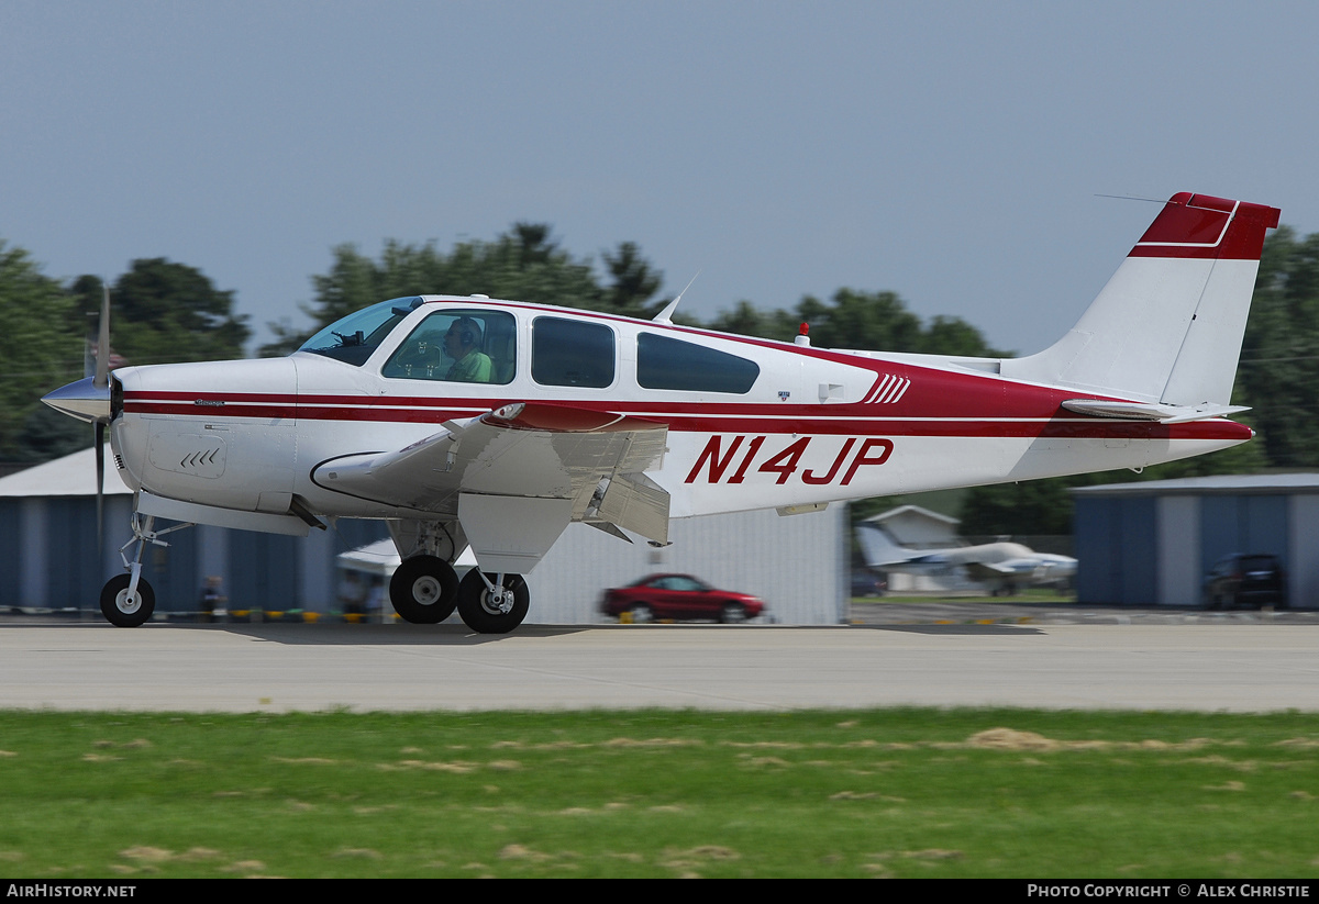
<path fill-rule="evenodd" d="M 1076 610 L 1071 615 L 1075 622 Z M 475 635 L 454 625 L 125 630 L 3 618 L 0 706 L 1319 710 L 1316 618 L 983 621 L 524 626 L 510 635 Z"/>

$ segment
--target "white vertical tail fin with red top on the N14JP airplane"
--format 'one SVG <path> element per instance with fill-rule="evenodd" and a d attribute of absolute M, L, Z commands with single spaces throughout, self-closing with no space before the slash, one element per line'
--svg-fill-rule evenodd
<path fill-rule="evenodd" d="M 1173 195 L 1072 329 L 1013 380 L 1165 405 L 1228 405 L 1254 277 L 1279 211 Z"/>

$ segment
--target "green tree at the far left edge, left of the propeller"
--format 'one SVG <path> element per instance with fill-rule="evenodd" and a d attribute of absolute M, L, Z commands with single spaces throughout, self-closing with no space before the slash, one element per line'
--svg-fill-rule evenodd
<path fill-rule="evenodd" d="M 32 461 L 32 440 L 44 438 L 42 424 L 47 423 L 40 398 L 83 377 L 83 322 L 59 283 L 42 275 L 28 252 L 4 241 L 0 241 L 0 320 L 8 344 L 0 368 L 0 457 Z M 70 424 L 79 426 L 73 420 Z M 80 435 L 79 440 L 79 434 L 61 430 L 59 441 L 53 443 L 57 453 L 73 451 L 67 448 L 70 444 L 90 445 L 91 428 Z"/>

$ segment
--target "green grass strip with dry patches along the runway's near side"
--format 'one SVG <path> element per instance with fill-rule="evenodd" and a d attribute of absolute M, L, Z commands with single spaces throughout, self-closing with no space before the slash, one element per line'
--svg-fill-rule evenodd
<path fill-rule="evenodd" d="M 0 876 L 1319 876 L 1319 720 L 0 712 Z"/>

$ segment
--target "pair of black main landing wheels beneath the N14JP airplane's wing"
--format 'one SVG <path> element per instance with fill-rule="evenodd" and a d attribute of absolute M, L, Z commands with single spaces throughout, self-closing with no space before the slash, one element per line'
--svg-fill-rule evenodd
<path fill-rule="evenodd" d="M 389 601 L 405 622 L 438 625 L 454 609 L 479 634 L 506 634 L 522 623 L 530 604 L 521 575 L 485 575 L 474 568 L 462 581 L 439 556 L 404 559 L 389 581 Z"/>

